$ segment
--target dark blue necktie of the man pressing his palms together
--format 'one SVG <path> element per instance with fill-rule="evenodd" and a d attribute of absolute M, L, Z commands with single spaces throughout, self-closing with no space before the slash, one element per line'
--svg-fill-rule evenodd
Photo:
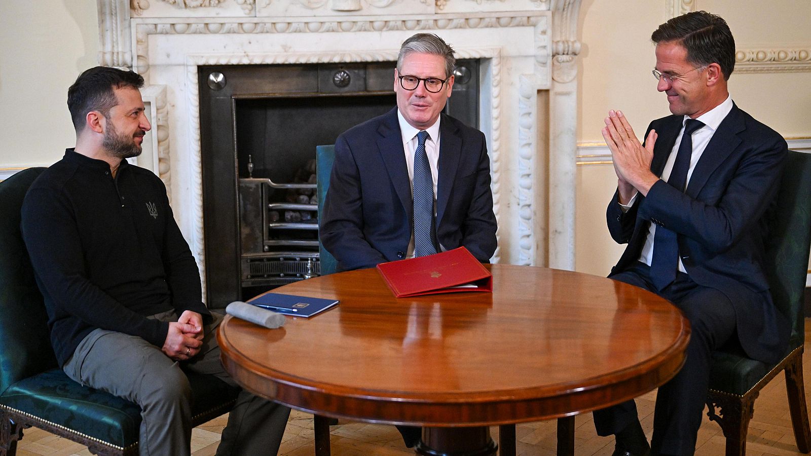
<path fill-rule="evenodd" d="M 704 127 L 704 123 L 693 118 L 684 123 L 684 134 L 681 136 L 679 152 L 667 183 L 678 191 L 684 191 L 687 182 L 687 171 L 690 169 L 690 156 L 693 154 L 693 132 Z M 676 232 L 663 226 L 656 226 L 654 234 L 654 254 L 650 259 L 650 281 L 657 290 L 662 290 L 676 280 L 679 269 L 679 243 Z"/>

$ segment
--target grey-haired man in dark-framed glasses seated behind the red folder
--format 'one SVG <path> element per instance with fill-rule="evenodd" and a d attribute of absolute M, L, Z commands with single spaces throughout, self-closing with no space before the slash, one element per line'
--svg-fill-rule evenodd
<path fill-rule="evenodd" d="M 336 140 L 320 238 L 338 269 L 461 246 L 483 262 L 496 252 L 484 135 L 442 114 L 455 62 L 436 35 L 405 40 L 394 71 L 397 107 Z"/>

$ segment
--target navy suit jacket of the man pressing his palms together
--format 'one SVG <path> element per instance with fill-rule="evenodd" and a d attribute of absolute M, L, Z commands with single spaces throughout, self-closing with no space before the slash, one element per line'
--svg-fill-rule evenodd
<path fill-rule="evenodd" d="M 648 127 L 659 133 L 650 165 L 658 176 L 682 119 L 671 115 Z M 614 195 L 607 209 L 608 229 L 628 247 L 611 273 L 637 261 L 649 223 L 675 231 L 679 256 L 693 281 L 732 301 L 746 354 L 776 362 L 785 355 L 791 328 L 771 301 L 763 256 L 766 222 L 775 208 L 786 157 L 783 137 L 734 105 L 707 144 L 686 191 L 659 180 L 646 197 L 637 196 L 627 213 Z"/>

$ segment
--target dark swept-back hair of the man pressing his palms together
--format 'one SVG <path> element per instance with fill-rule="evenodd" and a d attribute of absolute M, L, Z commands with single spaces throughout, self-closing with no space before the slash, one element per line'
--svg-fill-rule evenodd
<path fill-rule="evenodd" d="M 727 21 L 706 11 L 693 11 L 659 25 L 650 35 L 654 43 L 680 41 L 687 49 L 687 61 L 706 67 L 718 63 L 723 79 L 735 69 L 735 38 Z"/>

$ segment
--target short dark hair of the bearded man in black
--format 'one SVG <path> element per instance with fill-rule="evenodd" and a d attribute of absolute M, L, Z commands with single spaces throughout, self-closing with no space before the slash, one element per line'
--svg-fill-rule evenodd
<path fill-rule="evenodd" d="M 135 71 L 112 67 L 92 67 L 84 71 L 67 89 L 67 109 L 76 131 L 84 128 L 84 118 L 90 111 L 99 111 L 107 117 L 109 110 L 118 105 L 115 88 L 142 88 L 144 78 Z"/>

